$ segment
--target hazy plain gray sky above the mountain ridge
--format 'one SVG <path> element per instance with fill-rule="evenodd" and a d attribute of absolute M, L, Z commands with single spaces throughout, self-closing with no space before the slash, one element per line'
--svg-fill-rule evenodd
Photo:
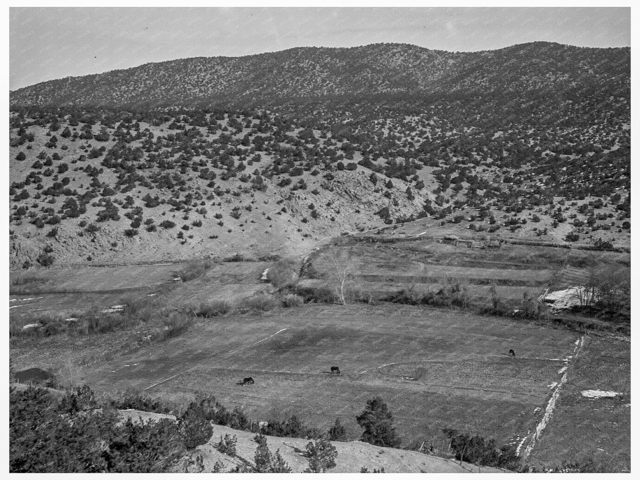
<path fill-rule="evenodd" d="M 10 8 L 10 90 L 195 56 L 380 42 L 630 46 L 630 8 Z"/>

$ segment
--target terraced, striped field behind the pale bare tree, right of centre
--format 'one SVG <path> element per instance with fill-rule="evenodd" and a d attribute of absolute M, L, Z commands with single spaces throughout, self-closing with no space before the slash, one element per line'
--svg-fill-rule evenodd
<path fill-rule="evenodd" d="M 630 266 L 628 253 L 513 244 L 488 250 L 429 238 L 396 243 L 354 243 L 346 239 L 339 248 L 351 252 L 356 266 L 354 286 L 367 294 L 388 297 L 408 288 L 419 293 L 437 292 L 453 282 L 464 285 L 468 295 L 481 304 L 488 304 L 492 287 L 502 300 L 521 301 L 525 293 L 537 298 L 547 289 L 580 284 L 591 269 Z M 319 287 L 323 284 L 319 272 L 330 269 L 330 262 L 323 251 L 312 254 L 310 261 L 313 269 L 301 285 Z"/>

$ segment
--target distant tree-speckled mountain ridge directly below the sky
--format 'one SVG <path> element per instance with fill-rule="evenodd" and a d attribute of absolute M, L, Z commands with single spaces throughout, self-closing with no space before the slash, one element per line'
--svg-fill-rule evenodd
<path fill-rule="evenodd" d="M 470 74 L 476 75 L 476 85 L 486 89 L 495 77 L 540 77 L 538 70 L 548 64 L 556 65 L 550 68 L 558 70 L 557 75 L 541 79 L 540 83 L 553 82 L 550 88 L 555 90 L 567 83 L 564 80 L 578 83 L 582 80 L 589 84 L 594 80 L 591 77 L 614 77 L 607 75 L 606 67 L 612 74 L 621 70 L 620 65 L 626 67 L 628 51 L 628 47 L 598 49 L 552 42 L 530 42 L 478 52 L 447 52 L 410 44 L 294 47 L 241 57 L 201 56 L 152 62 L 102 74 L 65 77 L 10 92 L 10 103 L 115 106 L 235 100 L 244 104 L 266 104 L 269 100 L 291 96 L 442 94 L 469 92 L 473 81 Z M 576 63 L 582 68 L 573 68 Z M 516 72 L 509 70 L 518 64 Z M 572 68 L 584 78 L 572 76 Z M 492 90 L 499 86 L 495 84 Z M 515 86 L 521 90 L 527 85 L 521 81 Z"/>

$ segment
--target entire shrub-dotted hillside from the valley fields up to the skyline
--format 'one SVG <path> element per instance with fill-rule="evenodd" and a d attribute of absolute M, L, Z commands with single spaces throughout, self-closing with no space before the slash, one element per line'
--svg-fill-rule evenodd
<path fill-rule="evenodd" d="M 10 92 L 12 268 L 304 255 L 417 218 L 626 247 L 629 58 L 305 47 Z"/>

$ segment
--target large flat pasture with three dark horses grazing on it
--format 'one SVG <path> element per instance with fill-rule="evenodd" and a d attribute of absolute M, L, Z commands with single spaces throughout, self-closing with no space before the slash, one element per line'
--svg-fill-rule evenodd
<path fill-rule="evenodd" d="M 77 378 L 98 391 L 174 400 L 211 392 L 258 420 L 296 413 L 324 429 L 340 417 L 353 438 L 356 415 L 381 395 L 404 445 L 442 441 L 445 427 L 513 442 L 534 428 L 577 338 L 431 307 L 311 305 L 215 317 L 177 339 L 88 365 Z M 510 348 L 516 358 L 506 355 Z M 331 374 L 332 365 L 342 373 Z M 246 376 L 255 385 L 238 385 Z"/>

